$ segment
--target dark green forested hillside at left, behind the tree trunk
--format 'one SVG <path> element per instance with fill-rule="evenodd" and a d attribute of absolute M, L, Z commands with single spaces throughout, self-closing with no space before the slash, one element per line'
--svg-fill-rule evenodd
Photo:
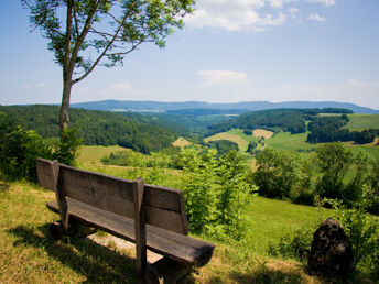
<path fill-rule="evenodd" d="M 0 106 L 0 112 L 42 138 L 58 136 L 56 106 Z M 107 111 L 71 109 L 69 127 L 77 129 L 87 145 L 121 145 L 142 153 L 159 151 L 173 142 L 177 134 L 160 125 L 142 123 L 131 117 Z"/>

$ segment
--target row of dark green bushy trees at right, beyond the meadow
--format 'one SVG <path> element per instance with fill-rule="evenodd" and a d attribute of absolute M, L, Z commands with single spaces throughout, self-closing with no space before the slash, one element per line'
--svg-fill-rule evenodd
<path fill-rule="evenodd" d="M 253 181 L 262 196 L 311 205 L 318 195 L 379 214 L 378 165 L 378 159 L 362 151 L 354 154 L 339 142 L 320 145 L 306 159 L 264 149 L 257 156 Z"/>

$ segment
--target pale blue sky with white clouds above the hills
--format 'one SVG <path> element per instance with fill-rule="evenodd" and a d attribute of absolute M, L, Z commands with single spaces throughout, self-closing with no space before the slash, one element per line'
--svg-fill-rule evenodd
<path fill-rule="evenodd" d="M 166 47 L 97 67 L 72 102 L 339 101 L 379 109 L 379 0 L 197 0 Z M 0 1 L 0 105 L 59 103 L 62 69 L 19 0 Z"/>

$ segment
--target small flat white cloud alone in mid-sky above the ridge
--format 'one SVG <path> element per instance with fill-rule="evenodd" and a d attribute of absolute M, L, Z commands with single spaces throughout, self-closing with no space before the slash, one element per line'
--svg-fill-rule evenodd
<path fill-rule="evenodd" d="M 204 79 L 204 86 L 235 86 L 243 85 L 247 74 L 232 70 L 199 70 L 197 73 Z"/>

